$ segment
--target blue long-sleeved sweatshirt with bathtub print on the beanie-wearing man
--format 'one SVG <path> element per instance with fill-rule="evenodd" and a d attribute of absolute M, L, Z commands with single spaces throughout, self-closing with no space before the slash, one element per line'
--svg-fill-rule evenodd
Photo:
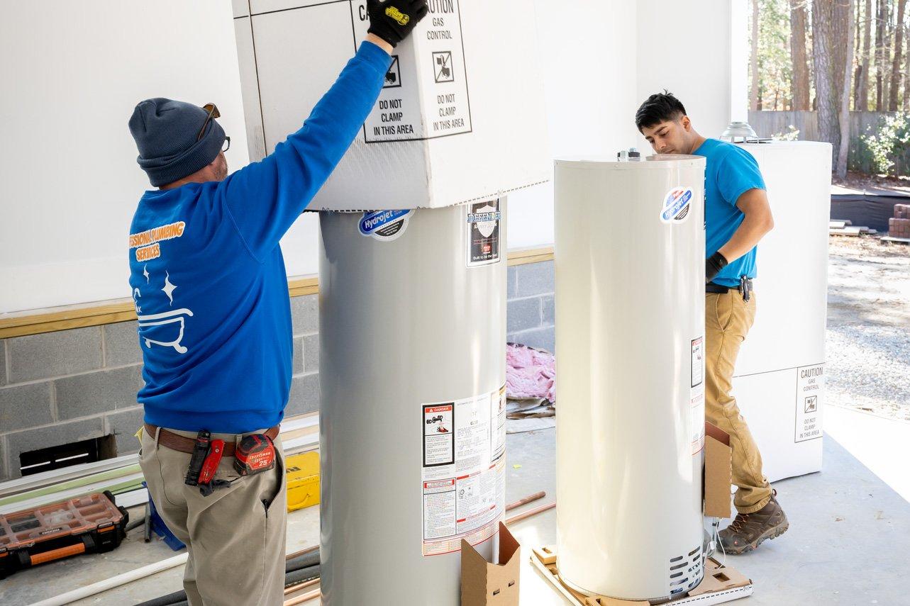
<path fill-rule="evenodd" d="M 147 191 L 129 237 L 147 423 L 244 433 L 278 424 L 291 381 L 278 240 L 344 156 L 391 59 L 365 42 L 303 127 L 224 181 Z"/>

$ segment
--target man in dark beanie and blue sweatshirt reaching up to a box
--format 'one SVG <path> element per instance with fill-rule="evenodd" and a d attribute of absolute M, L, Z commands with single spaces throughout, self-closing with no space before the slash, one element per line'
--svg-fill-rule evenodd
<path fill-rule="evenodd" d="M 278 425 L 291 381 L 288 278 L 278 240 L 344 156 L 376 103 L 389 53 L 426 0 L 370 0 L 369 35 L 303 126 L 261 162 L 227 175 L 217 108 L 154 98 L 129 120 L 153 187 L 129 236 L 146 385 L 140 464 L 158 511 L 187 543 L 187 600 L 280 604 L 286 494 Z M 317 60 L 304 57 L 301 60 Z M 194 476 L 206 437 L 210 481 Z M 244 473 L 249 434 L 276 465 Z M 223 440 L 223 447 L 216 441 Z M 254 467 L 255 466 L 252 466 Z M 267 466 L 268 467 L 268 466 Z"/>

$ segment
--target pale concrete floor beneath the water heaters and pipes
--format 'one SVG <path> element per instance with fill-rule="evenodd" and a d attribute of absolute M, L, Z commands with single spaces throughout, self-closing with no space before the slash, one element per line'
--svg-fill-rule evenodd
<path fill-rule="evenodd" d="M 895 451 L 899 448 L 894 444 Z M 555 431 L 547 429 L 508 438 L 507 501 L 555 489 Z M 910 572 L 905 552 L 910 542 L 910 503 L 856 460 L 830 436 L 825 439 L 824 471 L 775 484 L 790 519 L 783 537 L 765 542 L 747 556 L 731 557 L 754 583 L 743 604 L 829 606 L 856 604 L 910 605 L 903 581 Z M 906 459 L 904 459 L 906 460 Z M 521 465 L 515 469 L 514 465 Z M 532 507 L 529 505 L 527 507 Z M 548 511 L 511 527 L 524 546 L 521 604 L 562 606 L 568 602 L 551 591 L 527 561 L 532 546 L 556 539 L 556 514 Z M 160 541 L 145 544 L 139 530 L 106 555 L 82 556 L 16 573 L 0 582 L 0 603 L 29 604 L 112 574 L 174 554 Z M 319 539 L 317 508 L 296 511 L 288 520 L 288 550 Z M 890 549 L 889 549 L 890 548 Z M 180 589 L 180 568 L 76 602 L 135 604 Z M 312 604 L 317 601 L 310 602 Z"/>

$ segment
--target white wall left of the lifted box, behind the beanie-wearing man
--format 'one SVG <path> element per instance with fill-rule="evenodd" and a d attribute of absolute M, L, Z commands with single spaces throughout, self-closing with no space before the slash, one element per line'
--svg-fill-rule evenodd
<path fill-rule="evenodd" d="M 248 162 L 230 4 L 6 3 L 0 56 L 0 313 L 128 297 L 136 103 L 217 103 Z"/>

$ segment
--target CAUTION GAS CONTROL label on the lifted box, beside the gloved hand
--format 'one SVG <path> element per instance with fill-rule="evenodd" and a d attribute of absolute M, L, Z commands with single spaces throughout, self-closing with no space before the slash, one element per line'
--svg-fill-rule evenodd
<path fill-rule="evenodd" d="M 379 100 L 364 122 L 367 143 L 470 133 L 468 75 L 458 0 L 434 0 L 396 48 Z M 367 35 L 365 0 L 351 3 L 357 43 Z"/>

